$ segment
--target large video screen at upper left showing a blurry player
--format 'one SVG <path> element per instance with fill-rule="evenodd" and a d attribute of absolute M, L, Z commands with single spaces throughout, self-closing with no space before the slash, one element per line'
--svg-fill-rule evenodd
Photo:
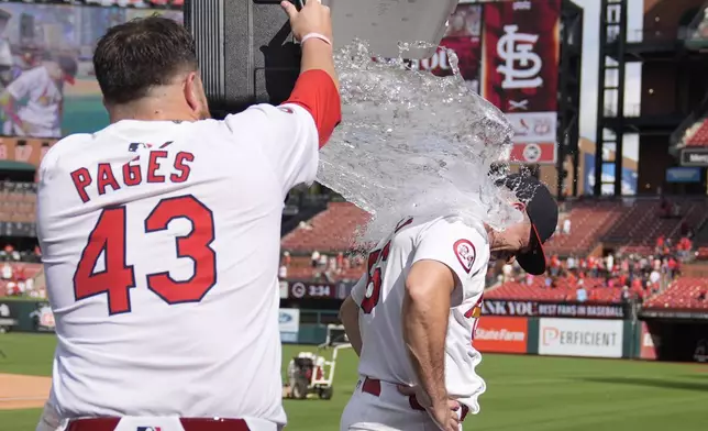
<path fill-rule="evenodd" d="M 3 2 L 0 134 L 48 139 L 108 125 L 93 76 L 96 41 L 113 25 L 153 13 L 151 9 Z M 182 20 L 181 11 L 161 13 Z"/>

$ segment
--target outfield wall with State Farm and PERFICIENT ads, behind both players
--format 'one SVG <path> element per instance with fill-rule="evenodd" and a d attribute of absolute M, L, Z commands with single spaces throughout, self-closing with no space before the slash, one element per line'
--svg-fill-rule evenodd
<path fill-rule="evenodd" d="M 280 309 L 284 343 L 321 344 L 334 310 Z M 474 345 L 483 353 L 708 362 L 708 322 L 639 321 L 623 306 L 485 301 Z M 0 328 L 54 331 L 46 300 L 0 299 Z"/>

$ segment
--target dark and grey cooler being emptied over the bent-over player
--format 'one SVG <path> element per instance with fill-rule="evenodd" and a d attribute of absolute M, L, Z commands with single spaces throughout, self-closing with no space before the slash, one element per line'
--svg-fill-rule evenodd
<path fill-rule="evenodd" d="M 290 0 L 298 7 L 305 0 Z M 316 0 L 310 0 L 316 1 Z M 400 55 L 399 42 L 414 44 L 408 58 L 428 58 L 445 33 L 458 0 L 322 0 L 331 8 L 334 48 L 354 38 L 373 53 Z M 204 89 L 214 117 L 262 102 L 285 101 L 300 67 L 280 0 L 185 1 L 185 25 L 195 35 Z M 418 43 L 422 44 L 418 44 Z"/>

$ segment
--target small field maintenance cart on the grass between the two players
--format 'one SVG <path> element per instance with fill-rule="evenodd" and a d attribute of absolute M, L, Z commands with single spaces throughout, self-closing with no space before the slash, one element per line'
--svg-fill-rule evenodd
<path fill-rule="evenodd" d="M 328 324 L 327 341 L 318 346 L 317 352 L 300 352 L 288 364 L 284 398 L 306 399 L 312 396 L 331 399 L 338 353 L 350 347 L 352 344 L 346 339 L 344 327 Z M 328 349 L 332 350 L 330 360 L 324 356 Z"/>

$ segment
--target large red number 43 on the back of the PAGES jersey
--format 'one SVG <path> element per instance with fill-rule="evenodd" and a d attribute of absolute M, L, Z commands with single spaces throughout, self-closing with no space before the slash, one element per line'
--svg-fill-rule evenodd
<path fill-rule="evenodd" d="M 133 266 L 125 262 L 125 206 L 121 206 L 101 212 L 74 273 L 76 300 L 106 294 L 109 314 L 131 311 L 130 289 L 136 286 Z M 193 261 L 193 275 L 176 281 L 169 273 L 148 274 L 147 288 L 169 305 L 199 302 L 217 283 L 217 255 L 211 248 L 213 216 L 191 195 L 163 199 L 145 219 L 145 233 L 164 231 L 176 219 L 187 219 L 192 224 L 188 235 L 176 239 L 176 247 L 177 257 Z M 95 272 L 101 254 L 106 267 Z"/>

